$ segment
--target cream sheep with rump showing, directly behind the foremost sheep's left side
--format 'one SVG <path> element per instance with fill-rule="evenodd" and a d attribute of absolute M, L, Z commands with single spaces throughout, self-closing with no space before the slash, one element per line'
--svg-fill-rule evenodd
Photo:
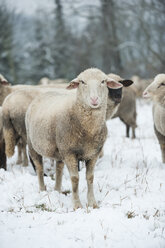
<path fill-rule="evenodd" d="M 63 89 L 55 87 L 32 87 L 17 90 L 6 97 L 3 109 L 3 133 L 6 144 L 6 155 L 8 158 L 14 155 L 15 146 L 18 146 L 17 164 L 23 162 L 23 166 L 28 166 L 26 154 L 26 128 L 25 113 L 31 101 L 39 94 L 47 91 L 63 92 Z"/>

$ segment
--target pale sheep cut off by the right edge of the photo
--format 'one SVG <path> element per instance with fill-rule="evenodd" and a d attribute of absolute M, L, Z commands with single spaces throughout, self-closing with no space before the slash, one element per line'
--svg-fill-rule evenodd
<path fill-rule="evenodd" d="M 162 162 L 165 163 L 165 74 L 158 74 L 145 89 L 143 97 L 153 100 L 154 131 L 160 144 Z"/>

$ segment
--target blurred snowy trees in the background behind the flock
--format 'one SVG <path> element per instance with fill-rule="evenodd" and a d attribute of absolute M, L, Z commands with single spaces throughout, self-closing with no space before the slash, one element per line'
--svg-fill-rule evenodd
<path fill-rule="evenodd" d="M 52 0 L 35 14 L 0 3 L 0 73 L 11 83 L 74 78 L 88 67 L 153 77 L 165 69 L 164 0 Z"/>

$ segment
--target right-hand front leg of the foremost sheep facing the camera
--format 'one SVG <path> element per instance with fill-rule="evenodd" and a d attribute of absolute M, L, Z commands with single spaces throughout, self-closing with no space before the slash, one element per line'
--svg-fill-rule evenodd
<path fill-rule="evenodd" d="M 86 180 L 88 185 L 88 193 L 87 193 L 87 199 L 88 199 L 88 206 L 97 208 L 97 203 L 94 197 L 93 192 L 93 179 L 94 179 L 94 167 L 96 164 L 97 159 L 91 159 L 86 162 Z"/>

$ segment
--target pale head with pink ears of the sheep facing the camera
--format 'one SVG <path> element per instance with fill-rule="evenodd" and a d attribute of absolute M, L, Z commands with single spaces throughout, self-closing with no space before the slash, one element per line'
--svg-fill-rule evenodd
<path fill-rule="evenodd" d="M 118 89 L 121 87 L 122 84 L 94 68 L 80 73 L 67 88 L 78 88 L 77 98 L 83 106 L 100 108 L 107 102 L 108 88 Z"/>

